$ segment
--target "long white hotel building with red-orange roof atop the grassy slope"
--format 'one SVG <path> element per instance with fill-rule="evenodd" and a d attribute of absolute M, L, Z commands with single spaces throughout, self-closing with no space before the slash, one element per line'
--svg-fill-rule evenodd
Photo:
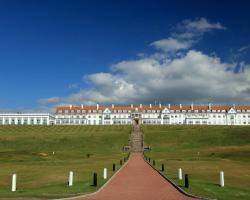
<path fill-rule="evenodd" d="M 50 113 L 0 113 L 0 125 L 250 125 L 250 106 L 64 106 Z"/>

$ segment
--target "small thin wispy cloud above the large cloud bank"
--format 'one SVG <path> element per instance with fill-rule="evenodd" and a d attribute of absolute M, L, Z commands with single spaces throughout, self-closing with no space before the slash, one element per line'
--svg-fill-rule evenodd
<path fill-rule="evenodd" d="M 212 30 L 226 30 L 226 27 L 219 22 L 211 23 L 206 18 L 183 20 L 174 28 L 170 37 L 154 41 L 151 45 L 164 52 L 176 52 L 178 50 L 189 49 L 197 43 L 205 33 Z"/>

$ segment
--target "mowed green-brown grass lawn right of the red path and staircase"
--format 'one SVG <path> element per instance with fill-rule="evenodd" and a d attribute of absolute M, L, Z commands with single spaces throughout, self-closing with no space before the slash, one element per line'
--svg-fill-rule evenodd
<path fill-rule="evenodd" d="M 189 174 L 189 193 L 223 200 L 250 199 L 249 126 L 143 126 L 146 153 L 157 168 L 178 181 L 177 170 Z M 152 161 L 151 161 L 152 162 Z M 225 173 L 225 187 L 219 187 L 219 172 Z M 184 177 L 184 175 L 183 175 Z"/>

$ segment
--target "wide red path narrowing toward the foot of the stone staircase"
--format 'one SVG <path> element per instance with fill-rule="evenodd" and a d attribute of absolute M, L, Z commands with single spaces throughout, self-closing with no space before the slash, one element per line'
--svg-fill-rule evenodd
<path fill-rule="evenodd" d="M 98 193 L 79 200 L 182 200 L 192 199 L 180 193 L 144 160 L 131 153 L 126 166 Z"/>

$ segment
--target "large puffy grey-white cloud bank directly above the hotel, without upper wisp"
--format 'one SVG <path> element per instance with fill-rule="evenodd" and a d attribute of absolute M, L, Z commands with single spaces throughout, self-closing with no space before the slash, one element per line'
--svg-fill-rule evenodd
<path fill-rule="evenodd" d="M 112 66 L 113 73 L 85 77 L 92 87 L 60 98 L 60 103 L 129 104 L 154 100 L 246 103 L 250 98 L 250 70 L 245 68 L 244 72 L 235 74 L 227 70 L 229 66 L 235 67 L 194 50 L 167 63 L 154 58 L 122 61 Z"/>

